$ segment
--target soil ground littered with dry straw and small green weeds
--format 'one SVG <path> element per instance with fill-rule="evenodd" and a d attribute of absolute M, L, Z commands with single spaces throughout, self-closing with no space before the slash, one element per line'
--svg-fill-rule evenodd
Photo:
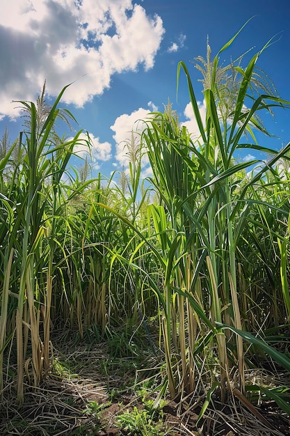
<path fill-rule="evenodd" d="M 198 426 L 206 394 L 163 398 L 155 410 L 163 357 L 152 350 L 134 355 L 133 347 L 131 352 L 112 357 L 106 342 L 79 343 L 74 334 L 54 338 L 53 370 L 38 389 L 26 380 L 22 407 L 15 404 L 15 382 L 7 384 L 0 404 L 0 434 L 290 436 L 289 416 L 273 401 L 255 407 L 255 416 L 236 396 L 227 405 L 216 399 Z"/>

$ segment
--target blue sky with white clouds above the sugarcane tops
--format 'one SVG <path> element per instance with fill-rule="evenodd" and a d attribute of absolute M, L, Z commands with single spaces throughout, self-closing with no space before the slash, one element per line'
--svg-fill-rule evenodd
<path fill-rule="evenodd" d="M 206 56 L 207 35 L 214 55 L 252 16 L 220 61 L 253 47 L 246 61 L 277 34 L 258 66 L 290 100 L 289 0 L 13 0 L 11 5 L 1 0 L 0 137 L 6 125 L 11 141 L 22 128 L 12 100 L 35 100 L 46 79 L 52 102 L 74 81 L 61 107 L 90 133 L 92 167 L 104 175 L 126 169 L 124 141 L 136 128 L 134 121 L 163 111 L 168 98 L 180 122 L 194 130 L 184 78 L 176 98 L 177 63 L 188 65 L 202 110 L 200 73 L 191 61 Z M 280 149 L 290 141 L 290 113 L 275 114 L 275 121 L 268 116 L 264 121 L 278 138 L 263 138 L 261 145 Z M 85 155 L 81 147 L 76 151 Z M 246 153 L 240 158 L 247 159 Z"/>

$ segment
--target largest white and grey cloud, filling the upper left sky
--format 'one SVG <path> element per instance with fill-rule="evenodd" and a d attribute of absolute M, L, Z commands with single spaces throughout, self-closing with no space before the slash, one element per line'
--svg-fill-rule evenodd
<path fill-rule="evenodd" d="M 51 95 L 77 80 L 63 100 L 83 106 L 115 72 L 152 68 L 163 33 L 161 17 L 132 0 L 1 0 L 0 119 L 45 79 Z"/>

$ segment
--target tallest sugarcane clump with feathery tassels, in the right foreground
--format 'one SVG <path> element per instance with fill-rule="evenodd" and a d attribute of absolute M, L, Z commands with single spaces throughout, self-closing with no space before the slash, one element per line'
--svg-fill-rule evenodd
<path fill-rule="evenodd" d="M 213 61 L 209 44 L 207 60 L 196 59 L 203 74 L 205 120 L 200 114 L 188 68 L 183 61 L 179 62 L 177 84 L 183 70 L 199 138 L 194 139 L 179 126 L 170 108 L 164 114 L 155 114 L 143 134 L 153 172 L 150 181 L 161 203 L 158 208 L 152 205 L 150 214 L 163 263 L 169 262 L 171 268 L 170 273 L 166 270 L 163 291 L 166 326 L 163 336 L 171 396 L 188 392 L 188 386 L 192 391 L 198 353 L 208 344 L 217 349 L 220 377 L 215 387 L 220 387 L 221 398 L 225 400 L 226 391 L 231 389 L 229 373 L 233 365 L 239 369 L 239 389 L 244 392 L 245 335 L 237 333 L 242 332 L 243 322 L 236 249 L 253 205 L 267 203 L 266 198 L 257 201 L 254 187 L 279 159 L 287 158 L 290 149 L 290 144 L 280 152 L 262 148 L 254 132 L 268 134 L 257 116 L 261 111 L 289 107 L 289 102 L 277 96 L 268 77 L 255 68 L 272 40 L 252 56 L 245 68 L 241 66 L 243 56 L 227 66 L 219 65 L 220 54 L 239 32 Z M 247 141 L 249 137 L 251 143 Z M 236 152 L 243 148 L 263 151 L 271 159 L 265 163 L 256 159 L 239 162 Z M 248 176 L 246 169 L 257 164 L 260 164 L 257 173 Z M 280 208 L 280 213 L 287 219 L 289 208 Z M 286 240 L 284 245 L 279 245 L 281 253 L 285 244 Z M 285 265 L 284 261 L 283 277 Z M 286 287 L 285 279 L 283 283 Z M 187 311 L 190 308 L 187 315 L 184 301 Z M 178 339 L 175 338 L 176 319 Z M 235 337 L 230 336 L 226 325 L 234 327 Z M 187 332 L 186 341 L 184 332 Z M 173 368 L 179 365 L 177 356 L 180 356 L 180 368 L 176 371 L 179 384 L 173 375 Z M 277 355 L 278 361 L 280 357 Z"/>

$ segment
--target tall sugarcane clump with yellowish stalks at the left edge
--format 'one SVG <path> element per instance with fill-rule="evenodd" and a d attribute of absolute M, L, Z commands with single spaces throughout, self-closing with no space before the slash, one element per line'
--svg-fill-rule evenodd
<path fill-rule="evenodd" d="M 81 130 L 68 139 L 56 134 L 59 118 L 74 120 L 70 112 L 58 109 L 65 88 L 49 108 L 43 100 L 45 86 L 37 107 L 33 102 L 19 102 L 29 115 L 28 123 L 1 161 L 0 353 L 2 366 L 3 351 L 16 341 L 19 403 L 24 399 L 24 375 L 37 387 L 50 365 L 53 256 L 58 244 L 56 224 L 63 219 L 65 204 L 61 178 L 74 146 L 81 141 Z M 12 160 L 16 148 L 17 159 Z"/>

